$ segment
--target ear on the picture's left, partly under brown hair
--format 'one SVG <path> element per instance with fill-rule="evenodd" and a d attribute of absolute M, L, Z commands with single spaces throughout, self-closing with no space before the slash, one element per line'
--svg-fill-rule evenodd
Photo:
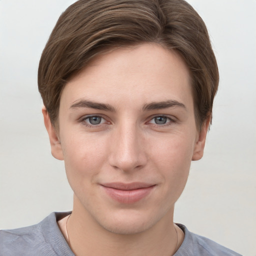
<path fill-rule="evenodd" d="M 63 157 L 62 147 L 61 147 L 56 129 L 54 128 L 54 126 L 50 121 L 50 117 L 45 106 L 42 107 L 42 115 L 43 115 L 45 128 L 49 135 L 51 154 L 56 159 L 63 160 L 64 157 Z"/>

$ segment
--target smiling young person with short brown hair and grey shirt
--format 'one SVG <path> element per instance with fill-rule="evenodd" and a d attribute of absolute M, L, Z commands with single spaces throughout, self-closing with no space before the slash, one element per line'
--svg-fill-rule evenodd
<path fill-rule="evenodd" d="M 79 0 L 42 52 L 38 88 L 72 212 L 0 232 L 2 255 L 239 255 L 173 223 L 203 155 L 218 69 L 183 0 Z"/>

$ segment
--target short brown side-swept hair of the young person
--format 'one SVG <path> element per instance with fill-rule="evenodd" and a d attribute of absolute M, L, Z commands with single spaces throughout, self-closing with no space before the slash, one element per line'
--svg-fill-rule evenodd
<path fill-rule="evenodd" d="M 211 117 L 218 68 L 208 32 L 184 0 L 79 0 L 59 17 L 42 52 L 38 89 L 53 125 L 61 91 L 72 75 L 105 49 L 159 43 L 190 70 L 197 128 Z"/>

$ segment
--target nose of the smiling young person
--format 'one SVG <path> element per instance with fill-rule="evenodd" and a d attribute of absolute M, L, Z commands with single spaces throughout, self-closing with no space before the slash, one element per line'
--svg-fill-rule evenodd
<path fill-rule="evenodd" d="M 147 161 L 142 131 L 136 124 L 124 123 L 115 128 L 110 141 L 109 164 L 122 171 L 145 166 Z"/>

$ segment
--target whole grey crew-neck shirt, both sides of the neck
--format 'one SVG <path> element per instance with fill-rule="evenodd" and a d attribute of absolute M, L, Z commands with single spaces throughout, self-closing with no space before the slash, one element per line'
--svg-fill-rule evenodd
<path fill-rule="evenodd" d="M 0 230 L 0 256 L 74 256 L 57 220 L 70 212 L 52 212 L 38 224 L 12 230 Z M 177 224 L 184 240 L 174 256 L 239 256 L 212 240 L 194 234 Z M 240 255 L 241 256 L 241 255 Z"/>

